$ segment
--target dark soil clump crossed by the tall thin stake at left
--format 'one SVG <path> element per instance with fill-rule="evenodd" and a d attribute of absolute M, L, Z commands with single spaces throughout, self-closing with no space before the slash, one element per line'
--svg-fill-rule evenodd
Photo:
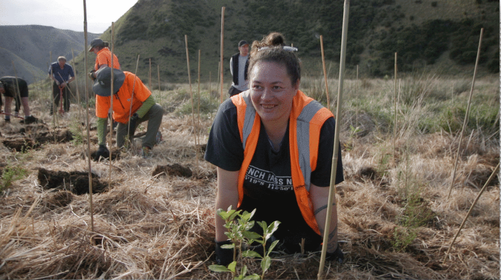
<path fill-rule="evenodd" d="M 76 195 L 89 193 L 89 173 L 72 171 L 51 171 L 44 168 L 38 171 L 38 181 L 42 188 L 68 190 Z M 99 176 L 92 173 L 92 193 L 103 193 L 108 190 L 108 184 L 99 181 Z"/>

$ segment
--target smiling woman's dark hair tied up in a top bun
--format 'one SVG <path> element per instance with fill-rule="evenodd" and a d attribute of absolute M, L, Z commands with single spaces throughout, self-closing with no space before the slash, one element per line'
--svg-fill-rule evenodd
<path fill-rule="evenodd" d="M 293 51 L 285 50 L 285 37 L 279 32 L 272 32 L 261 41 L 254 41 L 250 50 L 248 73 L 258 61 L 277 62 L 284 64 L 292 85 L 301 79 L 299 58 Z"/>

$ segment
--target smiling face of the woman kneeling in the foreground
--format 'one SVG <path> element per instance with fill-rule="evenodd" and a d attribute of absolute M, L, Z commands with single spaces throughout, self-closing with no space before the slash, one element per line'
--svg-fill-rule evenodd
<path fill-rule="evenodd" d="M 259 61 L 250 73 L 250 98 L 264 123 L 289 119 L 299 80 L 292 85 L 283 63 Z"/>

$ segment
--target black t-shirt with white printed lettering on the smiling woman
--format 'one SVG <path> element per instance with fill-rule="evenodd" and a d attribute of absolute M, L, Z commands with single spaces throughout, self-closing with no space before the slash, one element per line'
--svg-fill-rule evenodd
<path fill-rule="evenodd" d="M 311 174 L 311 184 L 319 187 L 330 185 L 334 128 L 335 121 L 331 117 L 324 123 L 320 132 L 317 168 Z M 215 116 L 209 133 L 205 159 L 227 171 L 240 170 L 243 147 L 238 131 L 236 106 L 231 99 L 220 105 Z M 337 184 L 344 180 L 341 157 L 338 157 L 336 174 Z M 274 151 L 261 123 L 256 152 L 246 170 L 243 191 L 244 196 L 239 209 L 248 212 L 257 209 L 255 221 L 266 221 L 268 224 L 280 221 L 277 235 L 290 231 L 313 232 L 301 215 L 293 189 L 289 127 L 279 151 Z"/>

